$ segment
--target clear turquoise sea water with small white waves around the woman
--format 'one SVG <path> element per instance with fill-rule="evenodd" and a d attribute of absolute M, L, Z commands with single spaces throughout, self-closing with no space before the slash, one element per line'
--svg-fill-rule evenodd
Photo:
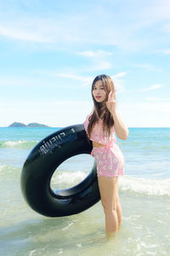
<path fill-rule="evenodd" d="M 170 128 L 130 128 L 117 139 L 126 161 L 119 179 L 122 225 L 105 237 L 100 201 L 85 212 L 47 218 L 31 210 L 20 172 L 31 149 L 59 128 L 0 128 L 0 255 L 170 255 Z M 69 188 L 93 166 L 89 154 L 62 163 L 52 188 Z"/>

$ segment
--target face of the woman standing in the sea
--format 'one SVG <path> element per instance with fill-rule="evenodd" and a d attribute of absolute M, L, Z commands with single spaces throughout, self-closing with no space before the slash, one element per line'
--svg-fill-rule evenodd
<path fill-rule="evenodd" d="M 92 90 L 92 94 L 96 102 L 104 102 L 106 99 L 106 91 L 102 84 L 102 81 L 99 80 L 94 84 L 94 88 Z"/>

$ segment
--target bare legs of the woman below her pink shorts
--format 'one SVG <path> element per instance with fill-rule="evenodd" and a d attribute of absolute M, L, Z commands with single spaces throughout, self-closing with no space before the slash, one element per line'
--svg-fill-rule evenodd
<path fill-rule="evenodd" d="M 116 232 L 122 221 L 122 208 L 118 198 L 118 177 L 98 177 L 99 192 L 105 212 L 106 233 Z"/>

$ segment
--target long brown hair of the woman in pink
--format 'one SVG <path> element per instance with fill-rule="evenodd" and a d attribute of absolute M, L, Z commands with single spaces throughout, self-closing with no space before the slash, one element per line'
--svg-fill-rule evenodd
<path fill-rule="evenodd" d="M 99 80 L 102 81 L 104 90 L 106 92 L 105 102 L 102 102 L 102 103 L 96 102 L 93 96 L 94 84 Z M 102 74 L 97 76 L 94 79 L 94 82 L 92 84 L 92 89 L 91 89 L 91 93 L 94 101 L 94 112 L 89 118 L 88 137 L 90 137 L 92 129 L 94 128 L 95 123 L 99 121 L 99 119 L 103 119 L 103 131 L 105 132 L 106 136 L 111 135 L 111 128 L 114 125 L 114 119 L 109 109 L 106 107 L 106 102 L 108 101 L 108 96 L 111 91 L 113 92 L 115 91 L 115 85 L 109 76 Z"/>

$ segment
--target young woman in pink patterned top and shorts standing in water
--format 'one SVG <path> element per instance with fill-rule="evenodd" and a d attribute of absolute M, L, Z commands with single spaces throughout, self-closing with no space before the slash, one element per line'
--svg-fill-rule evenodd
<path fill-rule="evenodd" d="M 92 84 L 94 110 L 84 122 L 88 139 L 93 143 L 91 155 L 97 163 L 99 193 L 105 212 L 108 236 L 122 223 L 122 207 L 118 195 L 118 177 L 124 174 L 124 158 L 116 144 L 116 136 L 127 139 L 128 129 L 116 109 L 116 90 L 107 75 L 99 75 Z"/>

